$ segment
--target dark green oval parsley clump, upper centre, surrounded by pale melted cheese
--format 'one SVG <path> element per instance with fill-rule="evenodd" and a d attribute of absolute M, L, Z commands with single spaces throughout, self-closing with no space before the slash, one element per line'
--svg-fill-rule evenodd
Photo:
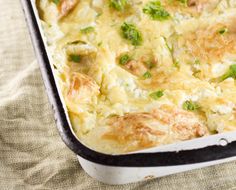
<path fill-rule="evenodd" d="M 124 24 L 121 25 L 121 31 L 123 37 L 129 40 L 132 45 L 141 45 L 143 41 L 142 34 L 138 31 L 135 25 L 124 22 Z"/>

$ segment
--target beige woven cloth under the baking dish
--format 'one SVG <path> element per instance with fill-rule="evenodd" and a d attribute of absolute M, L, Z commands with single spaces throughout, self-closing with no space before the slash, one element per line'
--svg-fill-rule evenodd
<path fill-rule="evenodd" d="M 0 0 L 0 190 L 236 189 L 236 162 L 147 182 L 90 178 L 58 136 L 19 1 Z"/>

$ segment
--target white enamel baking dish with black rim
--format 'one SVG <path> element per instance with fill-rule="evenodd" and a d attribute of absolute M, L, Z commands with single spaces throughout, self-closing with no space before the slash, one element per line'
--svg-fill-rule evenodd
<path fill-rule="evenodd" d="M 81 166 L 90 176 L 104 183 L 125 184 L 236 159 L 236 132 L 122 155 L 99 153 L 83 145 L 73 133 L 58 90 L 35 2 L 21 2 L 59 133 L 65 144 L 78 155 Z"/>

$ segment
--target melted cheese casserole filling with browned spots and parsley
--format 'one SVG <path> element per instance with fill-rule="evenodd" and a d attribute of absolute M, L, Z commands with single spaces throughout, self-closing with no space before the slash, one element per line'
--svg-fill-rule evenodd
<path fill-rule="evenodd" d="M 118 154 L 236 129 L 234 0 L 37 6 L 73 129 L 90 148 Z"/>

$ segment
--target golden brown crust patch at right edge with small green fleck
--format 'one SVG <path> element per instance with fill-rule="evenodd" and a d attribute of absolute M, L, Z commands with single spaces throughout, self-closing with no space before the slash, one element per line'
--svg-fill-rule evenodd
<path fill-rule="evenodd" d="M 227 28 L 229 31 L 221 35 L 219 30 L 222 28 Z M 209 63 L 221 60 L 226 53 L 236 52 L 236 33 L 233 31 L 233 25 L 207 26 L 184 37 L 190 54 Z"/>

